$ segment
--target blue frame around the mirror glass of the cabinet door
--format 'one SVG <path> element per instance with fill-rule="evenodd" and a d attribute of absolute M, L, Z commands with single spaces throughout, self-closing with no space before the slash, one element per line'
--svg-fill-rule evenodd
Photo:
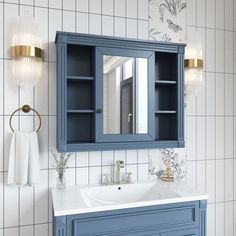
<path fill-rule="evenodd" d="M 148 61 L 148 132 L 145 134 L 104 134 L 103 113 L 96 113 L 96 142 L 143 142 L 154 141 L 154 52 L 143 50 L 123 50 L 111 47 L 96 48 L 96 106 L 95 110 L 103 108 L 103 55 L 146 58 Z M 104 109 L 103 109 L 104 110 Z"/>

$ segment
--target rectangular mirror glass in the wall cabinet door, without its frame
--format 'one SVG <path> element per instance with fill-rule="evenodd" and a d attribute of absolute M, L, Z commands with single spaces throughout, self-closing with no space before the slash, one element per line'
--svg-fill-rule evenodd
<path fill-rule="evenodd" d="M 148 133 L 148 59 L 103 55 L 103 133 Z"/>

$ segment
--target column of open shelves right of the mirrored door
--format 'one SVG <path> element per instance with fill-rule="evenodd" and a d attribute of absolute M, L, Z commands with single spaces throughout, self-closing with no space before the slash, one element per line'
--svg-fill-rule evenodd
<path fill-rule="evenodd" d="M 178 55 L 156 52 L 155 59 L 155 138 L 177 140 Z"/>

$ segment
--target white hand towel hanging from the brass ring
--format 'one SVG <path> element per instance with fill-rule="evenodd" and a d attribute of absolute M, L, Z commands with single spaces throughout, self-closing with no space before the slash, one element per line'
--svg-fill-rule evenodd
<path fill-rule="evenodd" d="M 14 132 L 10 147 L 8 184 L 34 185 L 39 182 L 39 175 L 36 132 Z"/>

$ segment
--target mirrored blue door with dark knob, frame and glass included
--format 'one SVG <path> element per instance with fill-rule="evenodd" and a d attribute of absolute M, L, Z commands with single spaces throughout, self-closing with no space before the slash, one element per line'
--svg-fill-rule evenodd
<path fill-rule="evenodd" d="M 154 140 L 154 55 L 96 48 L 97 142 Z"/>

